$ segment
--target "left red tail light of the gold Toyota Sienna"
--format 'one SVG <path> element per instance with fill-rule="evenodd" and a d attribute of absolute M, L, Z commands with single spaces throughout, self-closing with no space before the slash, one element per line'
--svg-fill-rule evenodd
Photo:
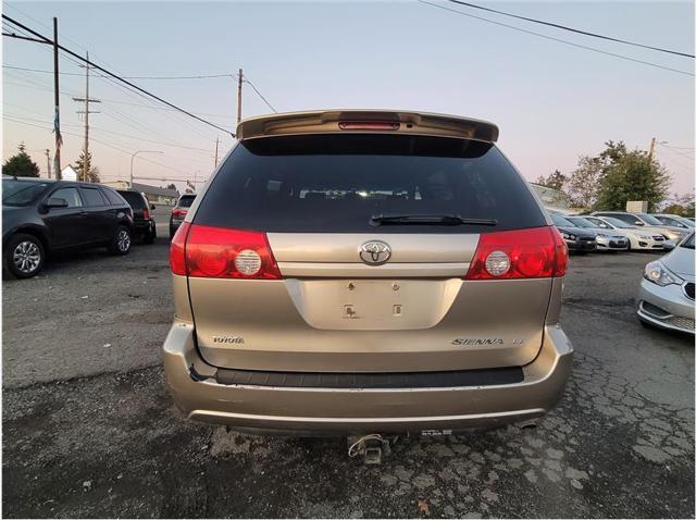
<path fill-rule="evenodd" d="M 265 233 L 184 222 L 170 247 L 174 274 L 209 278 L 278 280 L 283 276 Z"/>

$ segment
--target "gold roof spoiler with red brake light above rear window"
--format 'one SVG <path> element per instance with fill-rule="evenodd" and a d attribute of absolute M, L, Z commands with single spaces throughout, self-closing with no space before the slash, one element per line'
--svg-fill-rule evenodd
<path fill-rule="evenodd" d="M 388 110 L 326 110 L 262 115 L 241 121 L 237 139 L 325 133 L 418 134 L 495 143 L 498 127 L 456 115 Z"/>

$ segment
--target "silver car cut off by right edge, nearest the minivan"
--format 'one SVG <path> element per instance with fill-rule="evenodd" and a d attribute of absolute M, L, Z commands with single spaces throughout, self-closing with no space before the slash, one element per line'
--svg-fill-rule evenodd
<path fill-rule="evenodd" d="M 645 267 L 638 319 L 647 326 L 694 334 L 694 232 L 671 252 Z"/>

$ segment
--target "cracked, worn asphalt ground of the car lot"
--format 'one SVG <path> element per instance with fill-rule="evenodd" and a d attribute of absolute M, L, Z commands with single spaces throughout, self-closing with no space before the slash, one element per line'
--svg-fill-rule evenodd
<path fill-rule="evenodd" d="M 179 417 L 159 364 L 166 248 L 74 255 L 3 282 L 5 517 L 694 516 L 693 339 L 633 315 L 655 257 L 571 259 L 575 367 L 538 429 L 403 438 L 365 467 L 344 439 Z"/>

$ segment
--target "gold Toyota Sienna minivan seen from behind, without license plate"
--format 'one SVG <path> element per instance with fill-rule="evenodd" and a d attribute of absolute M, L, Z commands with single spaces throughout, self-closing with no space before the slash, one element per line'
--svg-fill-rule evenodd
<path fill-rule="evenodd" d="M 245 120 L 176 232 L 169 388 L 258 433 L 527 423 L 563 392 L 563 239 L 498 128 L 320 111 Z"/>

